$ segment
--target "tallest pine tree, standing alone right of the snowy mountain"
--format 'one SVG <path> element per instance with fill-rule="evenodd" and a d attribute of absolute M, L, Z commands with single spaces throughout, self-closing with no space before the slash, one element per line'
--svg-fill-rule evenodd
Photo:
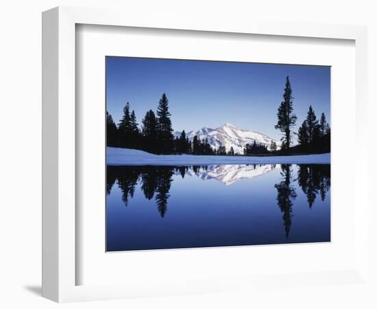
<path fill-rule="evenodd" d="M 275 128 L 284 133 L 282 137 L 282 148 L 289 149 L 291 146 L 291 128 L 295 126 L 297 117 L 293 113 L 293 96 L 291 83 L 289 82 L 289 76 L 287 76 L 287 81 L 285 83 L 284 101 L 280 103 L 278 108 L 278 124 Z"/>

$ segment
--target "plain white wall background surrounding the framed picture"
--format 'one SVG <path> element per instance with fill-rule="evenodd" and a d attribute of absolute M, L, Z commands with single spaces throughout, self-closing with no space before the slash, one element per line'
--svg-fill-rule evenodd
<path fill-rule="evenodd" d="M 58 5 L 123 7 L 164 18 L 184 12 L 193 19 L 266 19 L 368 25 L 369 115 L 377 113 L 377 9 L 367 0 L 116 1 L 7 0 L 0 4 L 0 307 L 56 308 L 40 297 L 41 238 L 41 12 Z M 371 119 L 372 123 L 376 123 Z M 371 145 L 376 128 L 369 126 Z M 370 154 L 372 155 L 371 146 Z M 370 157 L 372 161 L 372 157 Z M 369 188 L 374 189 L 370 164 Z M 376 204 L 376 203 L 375 203 Z M 376 214 L 376 211 L 374 211 Z M 373 215 L 372 215 L 373 216 Z M 377 216 L 373 216 L 377 218 Z M 371 231 L 376 235 L 376 227 Z M 374 243 L 374 244 L 373 244 Z M 371 252 L 376 263 L 376 238 Z M 376 276 L 376 268 L 372 269 Z M 376 286 L 279 288 L 271 294 L 193 295 L 95 303 L 65 308 L 376 308 Z"/>

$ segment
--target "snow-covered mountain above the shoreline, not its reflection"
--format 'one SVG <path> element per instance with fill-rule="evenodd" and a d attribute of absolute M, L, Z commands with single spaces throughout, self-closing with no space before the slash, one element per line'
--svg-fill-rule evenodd
<path fill-rule="evenodd" d="M 174 137 L 180 137 L 181 132 L 174 132 Z M 267 149 L 271 148 L 271 141 L 276 143 L 278 149 L 280 148 L 280 141 L 271 139 L 265 134 L 254 132 L 252 130 L 243 130 L 237 128 L 232 124 L 223 124 L 219 128 L 208 128 L 204 127 L 200 130 L 186 132 L 186 137 L 190 141 L 193 141 L 193 138 L 197 135 L 199 139 L 208 139 L 208 144 L 214 149 L 218 149 L 220 146 L 225 146 L 226 151 L 230 150 L 230 147 L 233 147 L 234 153 L 243 154 L 243 148 L 246 144 L 253 144 L 256 141 L 256 144 L 263 144 L 267 146 Z"/>

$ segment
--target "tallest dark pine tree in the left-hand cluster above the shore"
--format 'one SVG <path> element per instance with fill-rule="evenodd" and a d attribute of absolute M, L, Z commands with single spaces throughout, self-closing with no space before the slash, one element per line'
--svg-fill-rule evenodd
<path fill-rule="evenodd" d="M 167 96 L 163 93 L 157 108 L 157 132 L 160 152 L 165 154 L 173 152 L 173 128 L 171 127 L 170 116 L 169 100 L 167 100 Z"/>

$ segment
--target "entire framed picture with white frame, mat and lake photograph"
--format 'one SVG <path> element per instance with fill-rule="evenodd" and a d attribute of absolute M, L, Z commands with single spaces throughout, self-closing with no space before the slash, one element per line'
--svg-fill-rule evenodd
<path fill-rule="evenodd" d="M 55 8 L 42 31 L 44 297 L 364 280 L 365 27 Z"/>

